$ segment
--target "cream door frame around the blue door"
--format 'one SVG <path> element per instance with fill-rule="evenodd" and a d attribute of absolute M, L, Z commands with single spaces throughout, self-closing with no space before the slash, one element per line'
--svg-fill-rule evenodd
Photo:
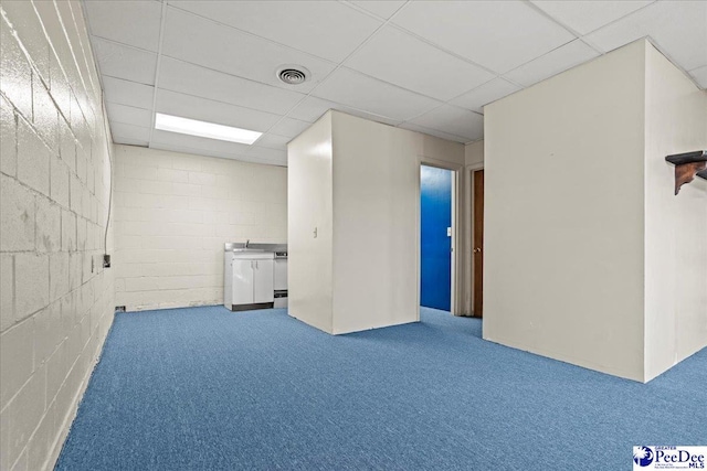
<path fill-rule="evenodd" d="M 463 205 L 460 204 L 462 200 L 462 189 L 465 188 L 466 175 L 464 172 L 463 164 L 455 164 L 452 162 L 445 162 L 442 160 L 431 159 L 424 156 L 420 157 L 420 162 L 418 164 L 418 188 L 416 188 L 416 208 L 418 208 L 418 224 L 416 224 L 416 233 L 415 239 L 418 242 L 418 250 L 415 254 L 416 266 L 418 266 L 418 321 L 420 321 L 420 297 L 421 297 L 421 256 L 420 250 L 422 249 L 422 240 L 420 237 L 420 232 L 422 231 L 422 211 L 421 211 L 421 168 L 425 167 L 434 167 L 437 169 L 450 170 L 452 172 L 452 274 L 451 274 L 451 298 L 450 298 L 450 311 L 454 315 L 462 315 L 463 306 L 462 306 L 462 289 L 463 283 L 461 280 L 463 279 L 464 271 L 464 257 L 463 257 L 463 232 L 465 225 L 465 214 L 462 208 Z"/>

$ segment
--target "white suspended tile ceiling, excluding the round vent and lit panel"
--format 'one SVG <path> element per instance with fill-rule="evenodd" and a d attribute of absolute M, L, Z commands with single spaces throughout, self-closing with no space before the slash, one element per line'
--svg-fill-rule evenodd
<path fill-rule="evenodd" d="M 84 2 L 114 140 L 286 165 L 326 110 L 458 142 L 483 106 L 648 36 L 707 87 L 705 1 Z M 285 64 L 310 79 L 278 82 Z M 154 129 L 163 113 L 264 132 L 245 146 Z"/>

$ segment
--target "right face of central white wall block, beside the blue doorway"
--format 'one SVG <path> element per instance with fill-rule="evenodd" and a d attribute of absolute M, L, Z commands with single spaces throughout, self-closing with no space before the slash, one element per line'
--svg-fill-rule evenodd
<path fill-rule="evenodd" d="M 334 333 L 419 320 L 422 135 L 334 114 Z"/>

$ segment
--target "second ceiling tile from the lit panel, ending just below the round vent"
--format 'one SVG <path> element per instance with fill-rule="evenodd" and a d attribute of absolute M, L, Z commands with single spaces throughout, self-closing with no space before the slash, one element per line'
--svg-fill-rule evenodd
<path fill-rule="evenodd" d="M 304 95 L 169 57 L 160 62 L 159 88 L 284 115 Z"/>

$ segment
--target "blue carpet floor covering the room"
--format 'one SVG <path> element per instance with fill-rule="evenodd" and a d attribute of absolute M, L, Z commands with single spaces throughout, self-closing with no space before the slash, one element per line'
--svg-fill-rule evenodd
<path fill-rule="evenodd" d="M 707 443 L 707 350 L 647 385 L 481 339 L 330 336 L 285 310 L 122 313 L 59 470 L 626 470 Z"/>

